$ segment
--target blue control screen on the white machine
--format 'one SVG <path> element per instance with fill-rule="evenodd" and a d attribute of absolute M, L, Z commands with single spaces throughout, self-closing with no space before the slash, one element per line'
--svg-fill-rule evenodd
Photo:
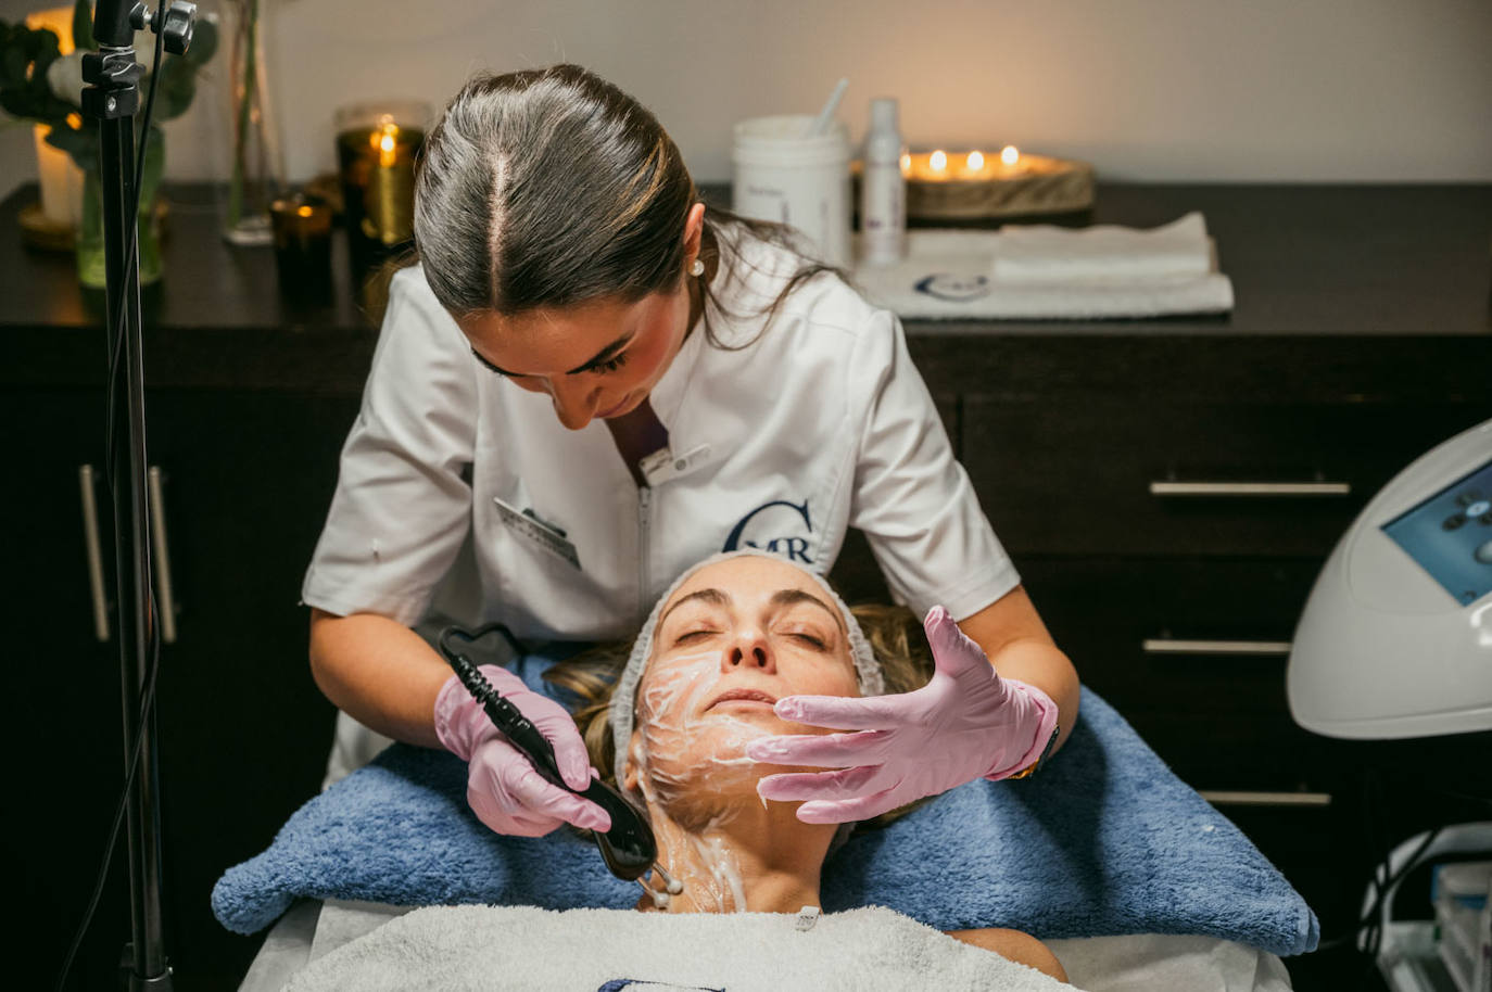
<path fill-rule="evenodd" d="M 1383 525 L 1461 603 L 1492 592 L 1492 461 Z"/>

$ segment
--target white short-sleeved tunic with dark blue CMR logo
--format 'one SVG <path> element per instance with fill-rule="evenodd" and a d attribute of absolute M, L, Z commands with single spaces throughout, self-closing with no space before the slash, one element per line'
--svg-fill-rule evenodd
<path fill-rule="evenodd" d="M 801 258 L 750 236 L 742 252 L 715 274 L 730 313 L 710 324 L 750 343 L 691 330 L 651 394 L 670 443 L 649 486 L 604 422 L 570 431 L 548 394 L 482 367 L 422 269 L 401 270 L 303 601 L 615 638 L 713 552 L 828 573 L 847 527 L 919 616 L 941 603 L 962 619 L 1015 588 L 897 315 L 822 273 L 768 324 Z"/>

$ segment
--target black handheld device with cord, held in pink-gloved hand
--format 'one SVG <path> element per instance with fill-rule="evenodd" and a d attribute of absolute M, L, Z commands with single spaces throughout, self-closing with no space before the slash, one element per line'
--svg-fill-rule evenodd
<path fill-rule="evenodd" d="M 658 841 L 653 838 L 652 826 L 648 825 L 642 810 L 600 779 L 591 779 L 591 785 L 583 791 L 567 786 L 560 776 L 560 765 L 555 764 L 555 749 L 549 743 L 549 738 L 539 732 L 539 728 L 524 716 L 522 710 L 500 697 L 492 683 L 477 670 L 476 664 L 449 643 L 457 638 L 471 643 L 492 631 L 500 632 L 515 650 L 524 653 L 522 646 L 501 624 L 489 624 L 477 631 L 448 627 L 440 631 L 440 653 L 445 656 L 446 664 L 457 673 L 457 677 L 461 679 L 461 685 L 471 694 L 471 698 L 482 704 L 486 718 L 492 721 L 492 726 L 500 729 L 503 737 L 528 758 L 539 774 L 565 792 L 573 792 L 595 803 L 610 814 L 612 828 L 609 831 L 591 831 L 595 846 L 601 850 L 601 859 L 606 862 L 607 870 L 618 879 L 627 882 L 640 879 L 658 859 Z"/>

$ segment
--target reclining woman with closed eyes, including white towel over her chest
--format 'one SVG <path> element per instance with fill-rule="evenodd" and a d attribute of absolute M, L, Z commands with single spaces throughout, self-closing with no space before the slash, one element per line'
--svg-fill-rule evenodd
<path fill-rule="evenodd" d="M 653 873 L 642 913 L 416 910 L 288 988 L 398 988 L 416 973 L 428 988 L 1056 988 L 1062 965 L 1019 931 L 944 935 L 882 907 L 819 919 L 819 873 L 847 825 L 806 823 L 798 803 L 758 795 L 765 776 L 804 770 L 753 761 L 747 741 L 830 732 L 783 721 L 773 703 L 927 680 L 930 665 L 880 627 L 873 652 L 839 597 L 782 558 L 701 562 L 655 606 L 619 677 L 594 677 L 594 656 L 546 674 L 589 701 L 576 719 L 591 761 L 646 809 L 674 885 Z"/>

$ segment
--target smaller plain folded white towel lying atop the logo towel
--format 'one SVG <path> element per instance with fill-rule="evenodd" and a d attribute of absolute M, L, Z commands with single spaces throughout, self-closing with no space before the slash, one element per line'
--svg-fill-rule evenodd
<path fill-rule="evenodd" d="M 1192 210 L 1150 230 L 1097 224 L 1007 224 L 1000 228 L 995 282 L 1129 282 L 1203 276 L 1213 269 L 1207 221 Z"/>

